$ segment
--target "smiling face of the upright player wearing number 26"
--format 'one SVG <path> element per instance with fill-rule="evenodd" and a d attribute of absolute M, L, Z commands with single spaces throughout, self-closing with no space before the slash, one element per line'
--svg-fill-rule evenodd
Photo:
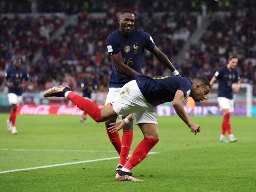
<path fill-rule="evenodd" d="M 120 32 L 123 36 L 128 36 L 134 26 L 134 14 L 133 13 L 122 13 L 118 18 L 120 24 Z"/>

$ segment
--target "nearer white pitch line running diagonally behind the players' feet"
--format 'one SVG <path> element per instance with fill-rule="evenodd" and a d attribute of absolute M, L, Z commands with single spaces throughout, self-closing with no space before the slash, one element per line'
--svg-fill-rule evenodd
<path fill-rule="evenodd" d="M 148 155 L 157 154 L 157 153 L 159 153 L 159 152 L 149 152 Z M 65 166 L 65 165 L 72 165 L 72 164 L 88 163 L 88 162 L 95 162 L 95 161 L 111 160 L 111 159 L 116 159 L 116 158 L 120 158 L 120 157 L 99 158 L 99 159 L 86 160 L 86 161 L 77 161 L 77 162 L 45 165 L 45 166 L 30 167 L 30 168 L 23 168 L 23 169 L 16 169 L 16 170 L 7 170 L 7 171 L 0 171 L 0 174 L 1 173 L 11 173 L 11 172 L 16 172 L 16 171 L 36 170 L 36 169 L 49 168 L 49 167 L 58 167 L 58 166 Z"/>

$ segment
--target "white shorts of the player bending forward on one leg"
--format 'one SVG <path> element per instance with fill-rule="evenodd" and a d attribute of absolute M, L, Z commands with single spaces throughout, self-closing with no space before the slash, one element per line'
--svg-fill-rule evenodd
<path fill-rule="evenodd" d="M 125 84 L 111 103 L 119 116 L 132 114 L 134 124 L 157 124 L 157 115 L 153 105 L 148 103 L 142 95 L 136 80 Z"/>

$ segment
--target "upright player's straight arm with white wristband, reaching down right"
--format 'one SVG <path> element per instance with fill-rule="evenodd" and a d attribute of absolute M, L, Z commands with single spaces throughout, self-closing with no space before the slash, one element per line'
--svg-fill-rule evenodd
<path fill-rule="evenodd" d="M 159 62 L 163 63 L 165 67 L 170 69 L 170 71 L 172 71 L 174 75 L 180 76 L 179 72 L 175 69 L 175 67 L 172 65 L 170 60 L 166 57 L 166 55 L 161 50 L 159 50 L 159 48 L 157 48 L 157 46 L 155 46 L 153 49 L 149 51 L 153 55 L 155 55 L 155 57 L 157 58 L 157 60 L 159 60 Z"/>

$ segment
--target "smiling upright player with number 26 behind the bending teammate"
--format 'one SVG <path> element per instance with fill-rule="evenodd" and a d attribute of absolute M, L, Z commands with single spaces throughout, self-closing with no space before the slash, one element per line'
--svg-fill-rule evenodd
<path fill-rule="evenodd" d="M 130 9 L 121 11 L 118 23 L 119 30 L 116 30 L 107 37 L 107 51 L 112 60 L 112 74 L 108 84 L 109 92 L 106 104 L 110 103 L 116 97 L 124 84 L 132 80 L 133 75 L 142 74 L 141 62 L 145 48 L 154 54 L 174 75 L 179 75 L 170 60 L 155 46 L 152 37 L 146 32 L 133 28 L 135 24 L 133 11 Z M 125 117 L 123 116 L 123 118 Z M 122 168 L 128 158 L 133 140 L 133 123 L 131 122 L 123 127 L 121 142 L 118 132 L 110 134 L 108 130 L 110 123 L 114 122 L 116 122 L 116 117 L 108 119 L 105 122 L 105 126 L 110 142 L 120 155 L 120 162 L 116 167 L 117 172 Z"/>

